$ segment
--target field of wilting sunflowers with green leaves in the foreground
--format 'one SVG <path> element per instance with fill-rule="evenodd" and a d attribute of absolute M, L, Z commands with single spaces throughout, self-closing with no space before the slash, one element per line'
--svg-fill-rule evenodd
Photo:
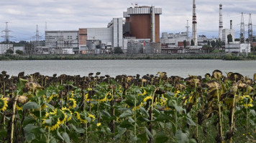
<path fill-rule="evenodd" d="M 256 74 L 0 74 L 0 142 L 256 142 Z"/>

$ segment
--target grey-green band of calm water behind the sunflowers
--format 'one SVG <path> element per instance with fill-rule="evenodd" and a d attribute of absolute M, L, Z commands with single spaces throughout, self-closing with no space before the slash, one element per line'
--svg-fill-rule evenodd
<path fill-rule="evenodd" d="M 243 76 L 253 77 L 256 73 L 256 61 L 222 61 L 222 60 L 41 60 L 41 61 L 0 61 L 0 71 L 15 75 L 25 74 L 68 74 L 87 76 L 89 73 L 101 72 L 111 77 L 121 74 L 145 75 L 165 71 L 170 76 L 188 77 L 188 74 L 204 76 L 219 69 L 225 72 L 238 72 Z M 225 74 L 226 75 L 226 74 Z"/>

